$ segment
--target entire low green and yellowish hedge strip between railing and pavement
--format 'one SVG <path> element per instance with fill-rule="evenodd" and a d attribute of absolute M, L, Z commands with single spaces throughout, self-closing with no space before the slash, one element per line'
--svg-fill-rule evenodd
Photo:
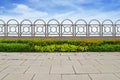
<path fill-rule="evenodd" d="M 0 52 L 120 52 L 120 40 L 8 40 L 0 39 Z"/>

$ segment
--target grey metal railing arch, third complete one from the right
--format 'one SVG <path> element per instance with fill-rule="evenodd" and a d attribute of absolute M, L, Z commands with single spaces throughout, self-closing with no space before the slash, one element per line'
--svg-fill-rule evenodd
<path fill-rule="evenodd" d="M 75 36 L 86 36 L 87 22 L 84 19 L 78 19 L 75 22 Z"/>

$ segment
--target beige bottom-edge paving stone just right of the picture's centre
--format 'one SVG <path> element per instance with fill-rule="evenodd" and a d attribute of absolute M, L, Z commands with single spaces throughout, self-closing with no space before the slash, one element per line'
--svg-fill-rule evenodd
<path fill-rule="evenodd" d="M 88 75 L 62 75 L 62 80 L 91 80 Z"/>

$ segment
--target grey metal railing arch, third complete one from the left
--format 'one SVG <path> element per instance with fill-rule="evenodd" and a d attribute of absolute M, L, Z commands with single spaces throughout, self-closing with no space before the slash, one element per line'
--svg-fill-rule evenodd
<path fill-rule="evenodd" d="M 37 19 L 34 22 L 34 35 L 45 36 L 46 35 L 46 22 L 42 19 Z"/>

